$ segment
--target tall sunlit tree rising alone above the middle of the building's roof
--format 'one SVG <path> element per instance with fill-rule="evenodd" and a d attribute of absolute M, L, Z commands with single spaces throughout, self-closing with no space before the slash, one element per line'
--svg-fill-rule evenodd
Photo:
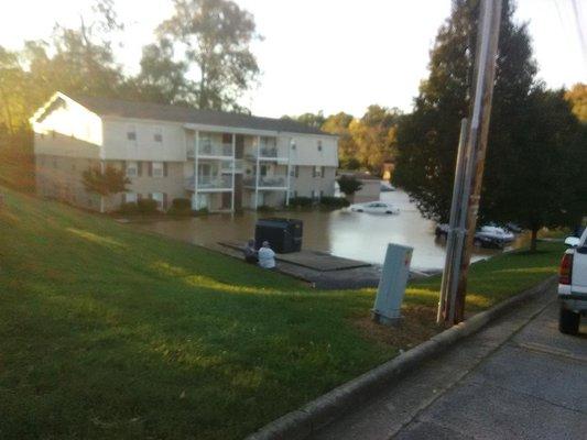
<path fill-rule="evenodd" d="M 175 47 L 197 80 L 187 100 L 200 109 L 240 110 L 238 98 L 259 75 L 250 44 L 260 36 L 254 19 L 230 0 L 175 0 L 174 15 L 160 24 L 160 38 Z"/>

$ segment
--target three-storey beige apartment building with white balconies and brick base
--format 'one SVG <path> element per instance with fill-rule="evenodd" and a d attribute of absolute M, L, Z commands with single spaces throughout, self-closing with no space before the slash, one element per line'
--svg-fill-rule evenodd
<path fill-rule="evenodd" d="M 333 196 L 338 139 L 287 119 L 55 94 L 31 123 L 41 196 L 99 211 L 151 198 L 162 210 L 235 211 Z M 113 166 L 128 191 L 89 194 L 83 173 Z"/>

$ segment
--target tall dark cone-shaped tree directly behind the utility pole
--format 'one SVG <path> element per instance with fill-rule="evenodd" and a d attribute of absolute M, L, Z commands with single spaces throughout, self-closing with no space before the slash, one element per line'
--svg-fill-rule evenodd
<path fill-rule="evenodd" d="M 398 131 L 394 183 L 415 199 L 425 217 L 444 222 L 450 207 L 460 119 L 468 116 L 470 105 L 478 4 L 454 1 L 450 18 L 431 51 L 430 76 L 421 85 L 413 113 L 402 119 Z M 481 216 L 489 199 L 494 199 L 493 206 L 499 199 L 500 164 L 518 147 L 536 72 L 526 25 L 515 24 L 513 12 L 511 2 L 504 1 Z"/>

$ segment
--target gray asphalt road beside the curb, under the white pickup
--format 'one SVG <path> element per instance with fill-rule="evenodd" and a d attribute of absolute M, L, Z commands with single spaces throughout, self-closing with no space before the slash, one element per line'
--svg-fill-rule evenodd
<path fill-rule="evenodd" d="M 373 396 L 314 439 L 587 439 L 587 320 L 551 290 Z"/>

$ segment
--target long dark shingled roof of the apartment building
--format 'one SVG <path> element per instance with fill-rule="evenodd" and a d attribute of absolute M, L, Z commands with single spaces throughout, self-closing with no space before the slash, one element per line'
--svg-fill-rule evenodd
<path fill-rule="evenodd" d="M 204 125 L 220 125 L 291 133 L 328 134 L 322 130 L 291 119 L 261 118 L 242 113 L 198 110 L 182 106 L 124 101 L 121 99 L 102 97 L 87 97 L 76 94 L 68 94 L 67 96 L 99 116 L 151 119 L 155 121 L 198 123 Z"/>

